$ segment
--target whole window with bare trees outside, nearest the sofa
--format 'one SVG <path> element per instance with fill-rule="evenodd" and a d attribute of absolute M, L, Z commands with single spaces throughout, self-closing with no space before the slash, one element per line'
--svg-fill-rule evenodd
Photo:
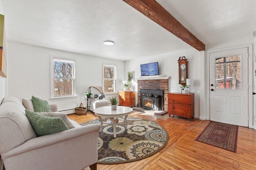
<path fill-rule="evenodd" d="M 75 96 L 75 61 L 52 58 L 52 97 Z"/>

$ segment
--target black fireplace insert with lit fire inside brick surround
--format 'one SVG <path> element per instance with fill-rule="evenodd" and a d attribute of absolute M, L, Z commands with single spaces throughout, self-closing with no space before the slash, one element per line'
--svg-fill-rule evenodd
<path fill-rule="evenodd" d="M 162 110 L 163 90 L 140 89 L 140 103 L 144 109 Z"/>

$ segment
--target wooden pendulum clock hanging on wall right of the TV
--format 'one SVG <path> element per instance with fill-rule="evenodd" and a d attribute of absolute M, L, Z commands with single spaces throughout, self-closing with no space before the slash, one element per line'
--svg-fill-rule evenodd
<path fill-rule="evenodd" d="M 179 64 L 179 84 L 186 84 L 188 78 L 188 60 L 185 56 L 182 56 L 178 60 Z"/>

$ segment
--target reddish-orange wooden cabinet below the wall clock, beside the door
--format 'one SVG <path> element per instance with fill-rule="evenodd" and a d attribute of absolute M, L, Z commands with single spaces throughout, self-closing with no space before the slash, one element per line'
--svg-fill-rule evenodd
<path fill-rule="evenodd" d="M 194 93 L 168 93 L 168 114 L 186 117 L 188 120 L 194 117 Z"/>

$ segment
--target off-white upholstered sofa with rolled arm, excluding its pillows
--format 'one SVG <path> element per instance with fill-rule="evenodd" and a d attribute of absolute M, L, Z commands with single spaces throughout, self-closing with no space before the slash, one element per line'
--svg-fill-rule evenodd
<path fill-rule="evenodd" d="M 0 154 L 6 170 L 97 169 L 100 125 L 37 137 L 17 98 L 0 105 Z"/>

